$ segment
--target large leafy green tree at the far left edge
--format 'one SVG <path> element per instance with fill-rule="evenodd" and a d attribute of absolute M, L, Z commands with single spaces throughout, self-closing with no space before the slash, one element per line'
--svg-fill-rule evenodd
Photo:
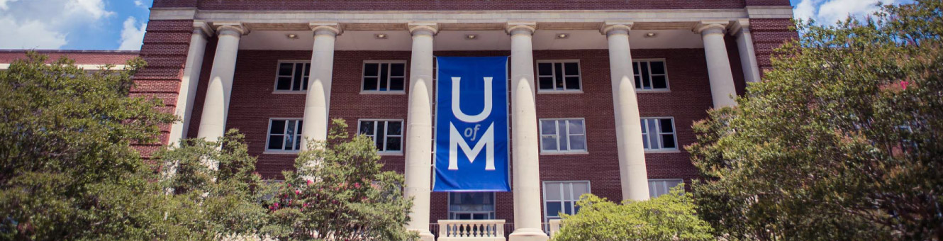
<path fill-rule="evenodd" d="M 130 98 L 131 75 L 35 53 L 0 72 L 0 239 L 148 239 L 173 230 L 132 142 L 174 117 Z"/>

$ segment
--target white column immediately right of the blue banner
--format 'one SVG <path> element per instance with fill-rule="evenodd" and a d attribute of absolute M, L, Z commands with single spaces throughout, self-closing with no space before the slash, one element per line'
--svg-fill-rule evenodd
<path fill-rule="evenodd" d="M 537 104 L 532 39 L 536 23 L 508 23 L 511 35 L 511 156 L 514 233 L 510 241 L 545 241 L 540 207 Z"/>

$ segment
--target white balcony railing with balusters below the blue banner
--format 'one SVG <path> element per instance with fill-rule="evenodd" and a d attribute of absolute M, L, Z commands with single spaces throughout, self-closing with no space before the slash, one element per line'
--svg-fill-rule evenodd
<path fill-rule="evenodd" d="M 505 220 L 438 220 L 438 241 L 505 241 Z"/>

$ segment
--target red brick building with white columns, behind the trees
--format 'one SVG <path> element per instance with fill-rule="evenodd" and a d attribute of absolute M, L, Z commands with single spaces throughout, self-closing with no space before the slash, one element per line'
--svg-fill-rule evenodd
<path fill-rule="evenodd" d="M 698 178 L 691 124 L 760 81 L 791 18 L 788 0 L 156 0 L 133 94 L 184 120 L 159 144 L 236 128 L 272 179 L 342 118 L 405 173 L 424 240 L 454 222 L 546 240 L 583 193 Z M 434 56 L 510 56 L 514 192 L 430 192 Z"/>

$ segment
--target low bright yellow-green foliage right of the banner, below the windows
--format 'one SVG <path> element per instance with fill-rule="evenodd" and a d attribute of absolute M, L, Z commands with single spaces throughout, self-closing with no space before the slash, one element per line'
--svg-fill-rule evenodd
<path fill-rule="evenodd" d="M 697 216 L 683 186 L 649 201 L 621 204 L 585 194 L 576 215 L 562 214 L 554 241 L 713 240 L 711 227 Z"/>

